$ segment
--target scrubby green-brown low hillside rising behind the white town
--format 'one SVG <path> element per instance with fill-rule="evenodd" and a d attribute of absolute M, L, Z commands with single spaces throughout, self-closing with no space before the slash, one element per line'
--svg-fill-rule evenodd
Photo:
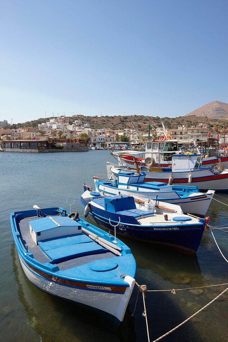
<path fill-rule="evenodd" d="M 12 128 L 16 129 L 16 127 L 37 127 L 38 123 L 48 121 L 48 119 L 40 118 L 38 120 L 32 120 L 22 123 L 13 124 Z M 198 123 L 202 122 L 203 124 L 207 123 L 211 127 L 211 131 L 215 130 L 215 132 L 220 132 L 223 130 L 223 120 L 219 119 L 210 119 L 210 123 L 208 123 L 207 117 L 195 116 L 195 115 L 187 115 L 180 116 L 177 118 L 160 118 L 159 116 L 144 116 L 144 115 L 131 115 L 131 116 L 83 116 L 80 118 L 83 123 L 89 123 L 90 128 L 99 129 L 99 128 L 110 128 L 117 130 L 119 129 L 133 129 L 131 124 L 132 121 L 137 122 L 136 127 L 141 132 L 148 131 L 148 124 L 151 124 L 153 127 L 162 127 L 162 122 L 164 122 L 166 128 L 177 128 L 178 125 L 185 125 L 186 127 L 196 126 Z M 72 117 L 66 117 L 66 121 L 71 123 L 75 120 Z M 228 120 L 226 120 L 226 127 L 228 128 Z M 11 126 L 9 127 L 11 128 Z"/>

